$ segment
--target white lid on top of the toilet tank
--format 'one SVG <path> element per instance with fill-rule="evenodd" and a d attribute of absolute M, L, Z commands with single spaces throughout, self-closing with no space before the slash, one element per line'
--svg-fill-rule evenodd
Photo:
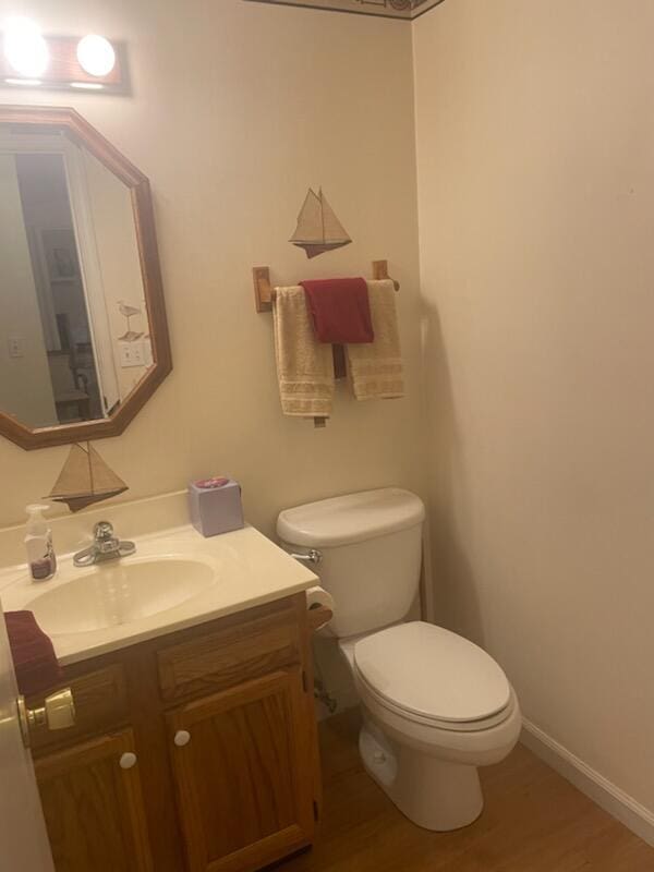
<path fill-rule="evenodd" d="M 397 533 L 424 519 L 420 497 L 384 487 L 286 509 L 277 519 L 277 534 L 289 545 L 326 548 Z"/>

